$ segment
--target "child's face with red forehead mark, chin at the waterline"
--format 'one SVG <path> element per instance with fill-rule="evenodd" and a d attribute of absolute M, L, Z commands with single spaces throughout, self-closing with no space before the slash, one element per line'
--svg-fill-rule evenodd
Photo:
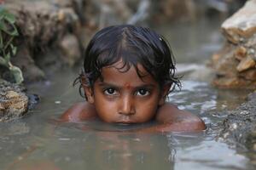
<path fill-rule="evenodd" d="M 158 82 L 142 65 L 138 65 L 138 69 L 147 75 L 143 80 L 137 76 L 133 66 L 129 71 L 125 68 L 125 72 L 118 70 L 122 65 L 119 61 L 102 68 L 103 82 L 98 78 L 93 89 L 84 88 L 88 102 L 95 105 L 98 116 L 104 122 L 148 122 L 155 115 L 158 105 L 164 103 L 165 93 L 160 92 Z"/>

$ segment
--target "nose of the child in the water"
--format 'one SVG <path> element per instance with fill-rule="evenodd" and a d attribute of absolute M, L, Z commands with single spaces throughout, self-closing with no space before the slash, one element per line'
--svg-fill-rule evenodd
<path fill-rule="evenodd" d="M 135 108 L 133 105 L 133 99 L 131 96 L 127 95 L 122 97 L 119 102 L 119 114 L 131 116 L 135 114 Z"/>

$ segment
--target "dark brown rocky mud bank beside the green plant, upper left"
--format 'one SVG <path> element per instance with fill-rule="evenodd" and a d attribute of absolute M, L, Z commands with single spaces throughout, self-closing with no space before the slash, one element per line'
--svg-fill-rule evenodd
<path fill-rule="evenodd" d="M 12 61 L 20 67 L 25 82 L 35 82 L 46 77 L 49 65 L 41 67 L 41 63 L 50 63 L 50 66 L 60 69 L 66 65 L 73 66 L 79 60 L 83 40 L 76 38 L 80 34 L 80 20 L 73 8 L 73 0 L 9 0 L 5 7 L 16 15 L 16 26 L 20 33 L 17 44 L 20 45 Z M 67 45 L 73 48 L 67 51 Z M 52 58 L 47 55 L 52 54 L 51 51 L 57 56 Z"/>

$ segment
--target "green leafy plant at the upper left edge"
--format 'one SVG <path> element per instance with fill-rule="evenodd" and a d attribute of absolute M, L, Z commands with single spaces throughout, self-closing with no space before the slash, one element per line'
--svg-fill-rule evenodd
<path fill-rule="evenodd" d="M 15 37 L 19 35 L 15 26 L 15 15 L 10 14 L 8 10 L 0 6 L 0 65 L 9 68 L 14 76 L 15 82 L 23 82 L 22 71 L 20 68 L 12 65 L 10 58 L 16 54 L 16 47 L 13 44 Z"/>

